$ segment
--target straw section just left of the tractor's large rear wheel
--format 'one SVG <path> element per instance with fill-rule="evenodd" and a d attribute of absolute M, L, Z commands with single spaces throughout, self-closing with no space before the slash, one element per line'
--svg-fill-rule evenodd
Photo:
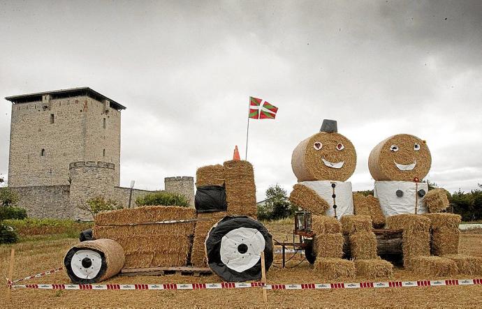
<path fill-rule="evenodd" d="M 196 228 L 194 229 L 193 246 L 191 250 L 191 263 L 193 266 L 207 267 L 205 249 L 206 237 L 212 226 L 224 218 L 224 216 L 226 216 L 226 212 L 224 211 L 217 213 L 198 213 L 198 218 L 210 220 L 200 220 L 196 223 Z"/>

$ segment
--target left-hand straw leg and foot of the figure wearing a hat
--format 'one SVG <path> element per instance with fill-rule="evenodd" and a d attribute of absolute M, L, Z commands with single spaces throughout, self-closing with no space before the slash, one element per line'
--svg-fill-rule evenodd
<path fill-rule="evenodd" d="M 316 233 L 313 248 L 314 269 L 328 279 L 355 276 L 353 261 L 342 259 L 344 238 L 342 225 L 333 217 L 312 216 L 312 231 Z"/>

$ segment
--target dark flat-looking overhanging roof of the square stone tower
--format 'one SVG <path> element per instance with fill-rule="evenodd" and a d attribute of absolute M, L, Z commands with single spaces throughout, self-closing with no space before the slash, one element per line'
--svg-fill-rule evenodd
<path fill-rule="evenodd" d="M 97 91 L 90 89 L 89 87 L 80 87 L 80 88 L 71 88 L 71 89 L 60 89 L 60 90 L 53 90 L 53 91 L 44 91 L 38 93 L 29 93 L 29 94 L 20 94 L 18 96 L 8 96 L 6 100 L 9 100 L 13 104 L 20 104 L 20 103 L 29 103 L 29 102 L 36 102 L 41 101 L 42 96 L 45 95 L 52 96 L 52 99 L 56 98 L 70 98 L 74 96 L 88 96 L 89 98 L 93 98 L 98 101 L 108 100 L 110 102 L 110 106 L 115 108 L 116 110 L 125 110 L 126 107 L 121 105 L 115 100 L 112 100 Z"/>

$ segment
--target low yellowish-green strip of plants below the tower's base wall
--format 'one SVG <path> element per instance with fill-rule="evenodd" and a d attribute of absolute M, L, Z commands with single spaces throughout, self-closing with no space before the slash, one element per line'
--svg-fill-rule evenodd
<path fill-rule="evenodd" d="M 94 225 L 92 222 L 38 218 L 3 220 L 3 224 L 13 227 L 20 236 L 62 234 L 64 238 L 78 238 L 80 232 Z"/>

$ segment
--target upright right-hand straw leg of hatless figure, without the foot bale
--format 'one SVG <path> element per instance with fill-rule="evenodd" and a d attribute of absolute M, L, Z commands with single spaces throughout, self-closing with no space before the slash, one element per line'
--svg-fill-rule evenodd
<path fill-rule="evenodd" d="M 430 191 L 429 191 L 430 192 Z M 426 213 L 432 229 L 432 254 L 456 255 L 460 242 L 461 217 L 453 213 Z"/>

